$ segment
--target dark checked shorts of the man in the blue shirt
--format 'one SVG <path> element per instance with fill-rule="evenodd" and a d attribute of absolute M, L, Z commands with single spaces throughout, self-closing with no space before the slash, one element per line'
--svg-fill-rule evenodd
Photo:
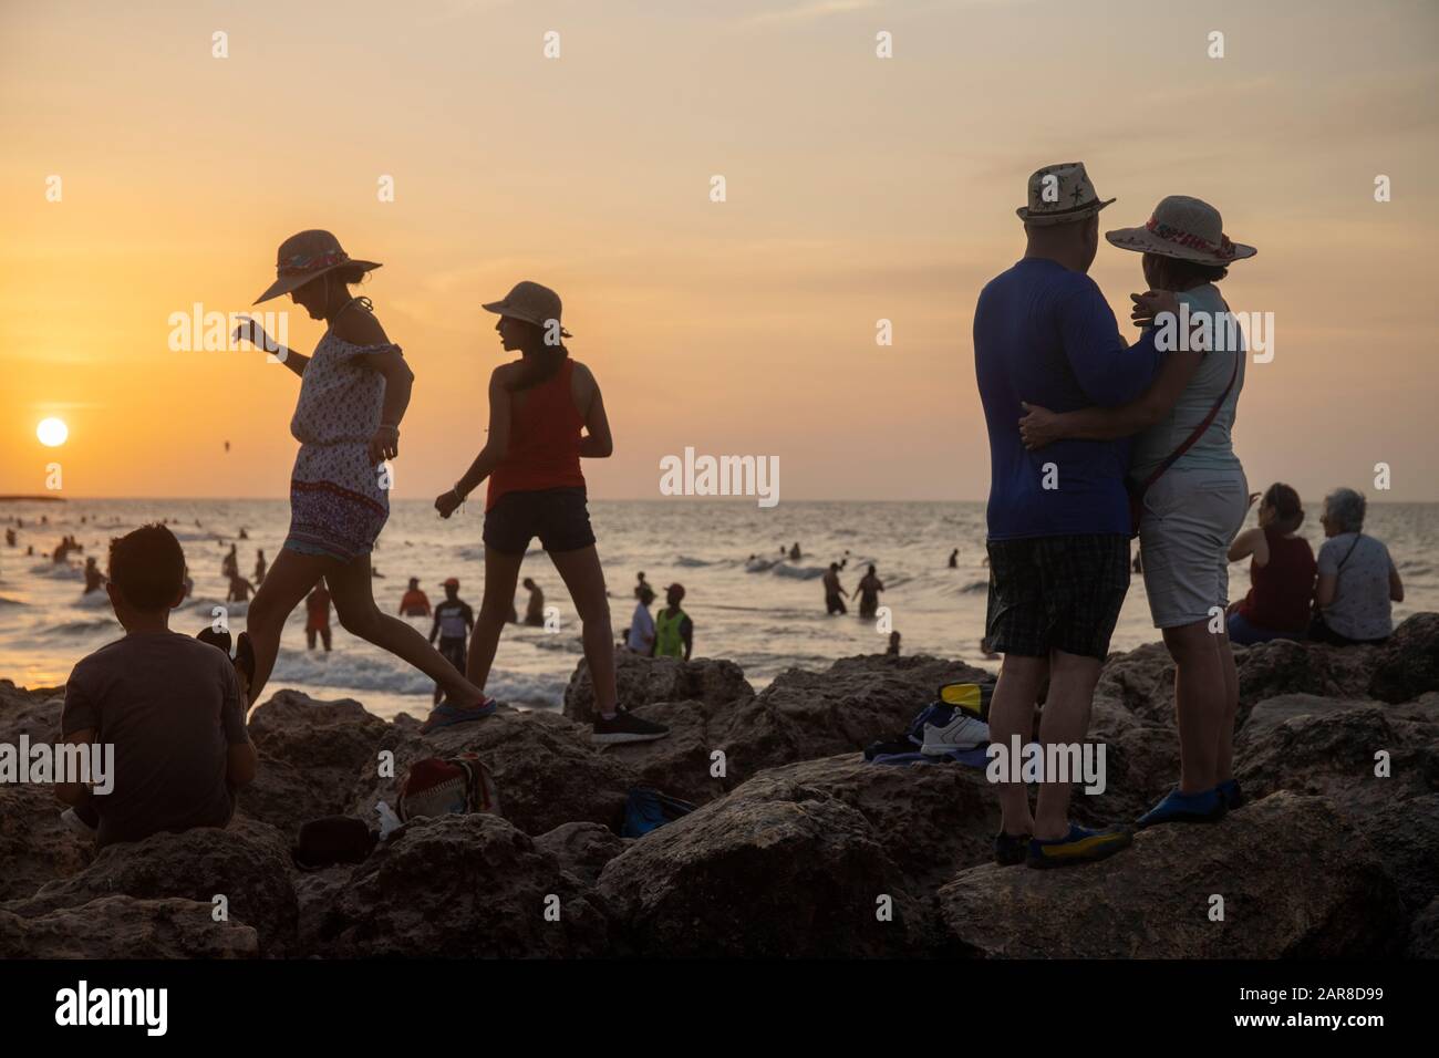
<path fill-rule="evenodd" d="M 1120 534 L 991 540 L 990 646 L 1048 658 L 1063 651 L 1104 661 L 1130 590 L 1130 541 Z"/>

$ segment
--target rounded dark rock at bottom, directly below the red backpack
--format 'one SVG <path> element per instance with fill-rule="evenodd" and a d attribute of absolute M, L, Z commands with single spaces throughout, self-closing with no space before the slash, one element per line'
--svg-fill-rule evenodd
<path fill-rule="evenodd" d="M 307 921 L 305 940 L 334 957 L 570 957 L 604 954 L 609 926 L 554 856 L 499 816 L 475 813 L 391 835 Z"/>

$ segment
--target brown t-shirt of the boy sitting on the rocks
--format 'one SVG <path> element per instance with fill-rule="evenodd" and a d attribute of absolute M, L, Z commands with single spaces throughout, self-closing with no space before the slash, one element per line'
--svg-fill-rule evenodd
<path fill-rule="evenodd" d="M 178 632 L 127 635 L 81 659 L 60 728 L 115 747 L 114 787 L 92 800 L 101 846 L 229 822 L 229 747 L 250 738 L 242 701 L 224 652 Z"/>

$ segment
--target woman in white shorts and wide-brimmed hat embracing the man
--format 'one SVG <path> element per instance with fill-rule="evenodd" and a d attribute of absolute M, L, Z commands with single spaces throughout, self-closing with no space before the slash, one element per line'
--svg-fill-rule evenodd
<path fill-rule="evenodd" d="M 1160 202 L 1143 227 L 1105 238 L 1144 253 L 1150 289 L 1131 295 L 1134 321 L 1158 328 L 1164 363 L 1128 404 L 1059 415 L 1030 407 L 1020 432 L 1029 448 L 1134 436 L 1130 485 L 1143 504 L 1144 587 L 1174 658 L 1180 736 L 1179 786 L 1135 825 L 1215 822 L 1242 802 L 1233 779 L 1239 674 L 1225 612 L 1229 544 L 1256 498 L 1230 440 L 1245 341 L 1215 284 L 1256 250 L 1230 242 L 1219 210 L 1187 196 Z"/>

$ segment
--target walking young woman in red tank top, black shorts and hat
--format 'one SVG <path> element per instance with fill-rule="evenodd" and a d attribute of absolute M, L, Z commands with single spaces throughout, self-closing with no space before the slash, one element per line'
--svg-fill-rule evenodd
<path fill-rule="evenodd" d="M 669 730 L 619 707 L 614 685 L 614 636 L 610 629 L 604 570 L 594 547 L 580 459 L 606 459 L 614 451 L 610 422 L 594 374 L 570 358 L 560 325 L 560 295 L 521 282 L 502 301 L 485 305 L 499 314 L 501 345 L 519 360 L 489 377 L 489 438 L 455 488 L 435 499 L 449 518 L 486 478 L 485 600 L 469 641 L 468 678 L 485 687 L 499 633 L 515 603 L 515 583 L 530 541 L 550 556 L 580 615 L 584 659 L 594 682 L 597 743 L 663 738 Z M 545 630 L 558 632 L 553 610 Z M 489 700 L 486 698 L 486 704 Z M 478 720 L 482 708 L 437 705 L 426 730 Z"/>

